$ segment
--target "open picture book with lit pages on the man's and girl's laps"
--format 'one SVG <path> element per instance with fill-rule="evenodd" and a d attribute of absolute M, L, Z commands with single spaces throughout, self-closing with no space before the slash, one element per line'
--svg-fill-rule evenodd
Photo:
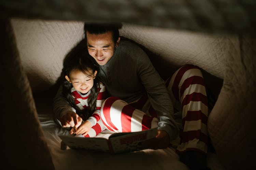
<path fill-rule="evenodd" d="M 138 144 L 155 138 L 156 134 L 157 128 L 141 132 L 114 133 L 109 138 L 85 138 L 65 135 L 59 135 L 59 137 L 62 139 L 62 145 L 67 145 L 70 149 L 86 149 L 116 154 L 146 149 Z"/>

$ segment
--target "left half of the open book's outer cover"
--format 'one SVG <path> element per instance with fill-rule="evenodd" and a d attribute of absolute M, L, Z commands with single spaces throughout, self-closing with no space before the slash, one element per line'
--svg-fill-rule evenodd
<path fill-rule="evenodd" d="M 108 138 L 109 135 L 105 134 L 103 137 L 95 138 L 85 138 L 85 137 L 75 137 L 75 136 L 65 136 L 59 135 L 70 149 L 87 149 L 99 152 L 109 152 Z"/>

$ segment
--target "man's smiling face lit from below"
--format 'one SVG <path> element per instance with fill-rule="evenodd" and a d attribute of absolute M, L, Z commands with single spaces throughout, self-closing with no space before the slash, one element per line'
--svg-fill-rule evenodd
<path fill-rule="evenodd" d="M 89 54 L 94 57 L 99 65 L 105 65 L 115 51 L 112 32 L 106 32 L 104 34 L 90 34 L 86 32 L 86 37 Z"/>

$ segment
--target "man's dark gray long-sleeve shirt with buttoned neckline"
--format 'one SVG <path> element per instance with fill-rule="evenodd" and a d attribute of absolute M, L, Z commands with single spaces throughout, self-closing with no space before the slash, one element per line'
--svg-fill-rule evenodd
<path fill-rule="evenodd" d="M 145 93 L 159 116 L 158 126 L 166 131 L 170 140 L 177 135 L 177 126 L 173 118 L 173 105 L 165 82 L 155 70 L 147 54 L 130 41 L 120 40 L 114 55 L 104 66 L 100 66 L 99 79 L 106 85 L 110 96 L 116 96 L 133 102 Z M 55 97 L 54 111 L 57 118 L 74 109 L 63 101 L 60 89 Z M 65 99 L 64 99 L 65 100 Z"/>

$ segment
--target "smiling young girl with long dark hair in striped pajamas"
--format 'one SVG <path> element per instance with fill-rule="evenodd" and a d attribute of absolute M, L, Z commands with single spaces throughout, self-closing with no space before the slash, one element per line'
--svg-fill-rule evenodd
<path fill-rule="evenodd" d="M 63 96 L 83 119 L 79 128 L 73 127 L 70 134 L 95 137 L 103 131 L 100 108 L 105 99 L 105 86 L 98 81 L 98 65 L 85 52 L 64 61 L 62 69 Z"/>

